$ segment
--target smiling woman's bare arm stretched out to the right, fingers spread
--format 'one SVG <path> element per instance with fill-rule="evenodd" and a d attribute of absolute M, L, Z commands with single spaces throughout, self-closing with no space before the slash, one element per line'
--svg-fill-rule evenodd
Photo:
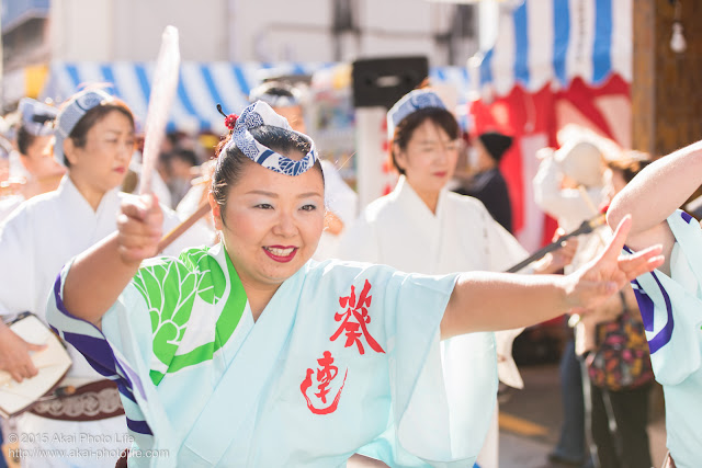
<path fill-rule="evenodd" d="M 567 276 L 462 274 L 441 321 L 442 338 L 529 327 L 599 306 L 629 281 L 663 263 L 660 246 L 620 256 L 631 225 L 631 217 L 625 217 L 600 256 Z"/>

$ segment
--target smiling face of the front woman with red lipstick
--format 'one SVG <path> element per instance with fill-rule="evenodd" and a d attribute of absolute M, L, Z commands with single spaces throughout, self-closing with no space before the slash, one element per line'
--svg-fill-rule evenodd
<path fill-rule="evenodd" d="M 324 181 L 314 168 L 292 176 L 247 161 L 229 187 L 226 206 L 211 205 L 241 282 L 278 286 L 317 249 L 324 228 Z"/>

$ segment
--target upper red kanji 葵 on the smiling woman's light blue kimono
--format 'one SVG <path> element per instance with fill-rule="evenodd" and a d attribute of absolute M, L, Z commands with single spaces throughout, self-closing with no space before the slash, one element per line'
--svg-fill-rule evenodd
<path fill-rule="evenodd" d="M 371 335 L 366 327 L 371 323 L 371 316 L 369 315 L 367 308 L 371 307 L 371 299 L 373 296 L 369 295 L 370 292 L 371 283 L 366 279 L 358 300 L 355 297 L 355 286 L 351 286 L 351 294 L 349 296 L 339 298 L 339 305 L 341 305 L 341 307 L 346 307 L 347 310 L 346 312 L 335 313 L 333 319 L 341 322 L 341 324 L 329 340 L 335 341 L 339 335 L 341 335 L 341 332 L 346 332 L 347 342 L 343 347 L 349 347 L 355 343 L 359 349 L 359 353 L 365 354 L 363 343 L 361 343 L 361 336 L 363 336 L 373 351 L 376 353 L 385 353 L 383 347 Z"/>

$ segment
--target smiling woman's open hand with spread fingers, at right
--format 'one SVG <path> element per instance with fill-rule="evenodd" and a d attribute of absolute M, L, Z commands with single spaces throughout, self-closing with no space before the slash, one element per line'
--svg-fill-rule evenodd
<path fill-rule="evenodd" d="M 654 271 L 664 263 L 663 246 L 653 246 L 632 255 L 623 255 L 626 235 L 632 227 L 631 216 L 616 227 L 607 249 L 593 261 L 568 275 L 568 303 L 571 312 L 582 313 L 604 303 L 630 281 Z"/>

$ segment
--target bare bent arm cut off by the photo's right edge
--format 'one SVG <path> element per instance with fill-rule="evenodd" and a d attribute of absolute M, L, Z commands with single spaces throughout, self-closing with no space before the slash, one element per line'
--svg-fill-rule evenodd
<path fill-rule="evenodd" d="M 661 243 L 669 254 L 675 243 L 665 222 L 702 185 L 702 141 L 660 158 L 641 171 L 612 201 L 610 226 L 631 214 L 634 222 L 626 244 L 637 250 Z"/>

